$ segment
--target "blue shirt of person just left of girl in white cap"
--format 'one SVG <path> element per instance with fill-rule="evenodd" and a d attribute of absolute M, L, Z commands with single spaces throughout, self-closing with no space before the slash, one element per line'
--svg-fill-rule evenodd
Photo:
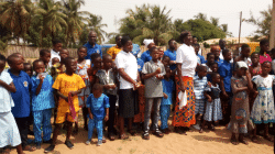
<path fill-rule="evenodd" d="M 231 92 L 231 77 L 232 77 L 233 65 L 227 61 L 219 67 L 219 74 L 223 77 L 224 89 L 227 92 Z"/>

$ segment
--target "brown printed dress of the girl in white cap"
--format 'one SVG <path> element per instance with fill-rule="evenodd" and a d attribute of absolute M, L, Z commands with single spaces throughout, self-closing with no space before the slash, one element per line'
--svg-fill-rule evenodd
<path fill-rule="evenodd" d="M 238 88 L 248 87 L 246 77 L 231 78 L 233 101 L 231 107 L 231 131 L 233 133 L 248 133 L 250 119 L 250 105 L 248 90 L 237 92 Z"/>

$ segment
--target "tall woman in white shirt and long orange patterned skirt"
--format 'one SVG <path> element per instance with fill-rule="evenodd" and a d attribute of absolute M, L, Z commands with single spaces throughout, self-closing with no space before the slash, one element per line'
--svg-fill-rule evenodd
<path fill-rule="evenodd" d="M 194 47 L 191 46 L 191 33 L 183 32 L 179 38 L 184 44 L 177 50 L 176 90 L 177 94 L 180 90 L 183 92 L 187 92 L 187 105 L 184 108 L 179 109 L 179 99 L 177 97 L 172 124 L 173 127 L 175 127 L 175 132 L 182 134 L 183 129 L 185 133 L 191 124 L 196 123 L 193 77 L 195 76 L 195 69 L 197 67 L 197 56 L 195 54 Z"/>

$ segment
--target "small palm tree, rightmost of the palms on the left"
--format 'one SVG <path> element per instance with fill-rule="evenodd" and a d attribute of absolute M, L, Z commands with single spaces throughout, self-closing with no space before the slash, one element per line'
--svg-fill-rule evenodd
<path fill-rule="evenodd" d="M 102 30 L 105 26 L 108 26 L 102 22 L 102 16 L 90 14 L 90 19 L 88 22 L 88 28 L 94 30 L 98 34 L 98 43 L 101 44 L 105 41 L 105 36 L 108 35 L 108 33 Z"/>

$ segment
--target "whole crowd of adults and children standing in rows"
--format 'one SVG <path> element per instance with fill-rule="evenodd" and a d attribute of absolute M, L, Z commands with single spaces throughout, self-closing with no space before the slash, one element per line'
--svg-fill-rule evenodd
<path fill-rule="evenodd" d="M 91 31 L 87 44 L 78 48 L 77 59 L 61 41 L 53 42 L 52 51 L 41 50 L 32 64 L 24 63 L 19 53 L 7 58 L 0 55 L 3 153 L 10 152 L 9 145 L 23 154 L 41 148 L 42 143 L 50 144 L 46 153 L 52 152 L 62 129 L 67 130 L 65 144 L 73 148 L 70 135 L 78 133 L 80 109 L 87 145 L 94 129 L 97 145 L 101 145 L 106 138 L 127 140 L 128 133 L 136 135 L 140 130 L 142 138 L 150 140 L 150 134 L 169 134 L 172 127 L 186 134 L 190 127 L 204 133 L 206 127 L 215 131 L 217 125 L 232 131 L 234 145 L 248 144 L 245 135 L 258 142 L 261 130 L 264 139 L 273 142 L 268 131 L 275 121 L 275 48 L 270 51 L 267 40 L 260 42 L 260 53 L 251 54 L 250 46 L 243 44 L 234 57 L 220 40 L 206 59 L 190 32 L 180 34 L 179 47 L 169 40 L 165 52 L 153 40 L 144 40 L 148 50 L 141 57 L 132 52 L 129 36 L 118 35 L 117 45 L 103 55 L 96 40 Z M 31 124 L 35 146 L 28 140 Z"/>

